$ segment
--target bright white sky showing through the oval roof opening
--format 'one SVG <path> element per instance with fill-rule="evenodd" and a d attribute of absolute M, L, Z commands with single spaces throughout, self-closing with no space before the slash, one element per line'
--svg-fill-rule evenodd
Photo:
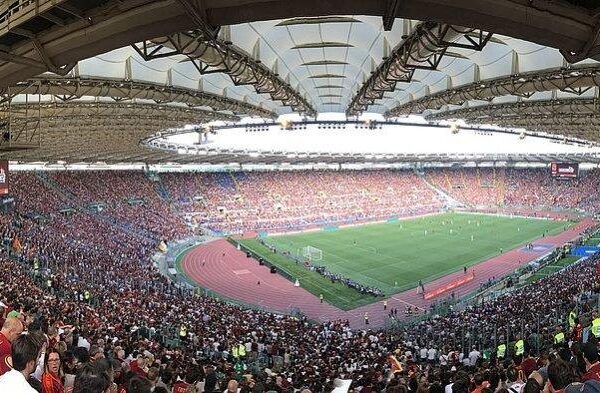
<path fill-rule="evenodd" d="M 346 162 L 365 157 L 370 162 L 523 162 L 576 161 L 600 163 L 600 147 L 493 128 L 453 128 L 415 122 L 370 123 L 315 121 L 299 124 L 249 123 L 184 129 L 146 141 L 181 154 L 249 156 L 268 159 L 312 159 Z M 267 157 L 267 158 L 265 158 Z M 292 161 L 293 162 L 293 161 Z"/>

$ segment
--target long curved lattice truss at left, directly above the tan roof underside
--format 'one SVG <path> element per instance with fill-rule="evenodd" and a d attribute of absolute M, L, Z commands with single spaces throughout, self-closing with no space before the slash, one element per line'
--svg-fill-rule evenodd
<path fill-rule="evenodd" d="M 131 80 L 41 76 L 0 88 L 0 104 L 20 94 L 51 95 L 65 102 L 81 97 L 108 97 L 118 102 L 143 99 L 157 104 L 177 103 L 190 108 L 209 107 L 214 111 L 230 111 L 265 118 L 277 117 L 274 112 L 260 106 L 218 94 Z"/>

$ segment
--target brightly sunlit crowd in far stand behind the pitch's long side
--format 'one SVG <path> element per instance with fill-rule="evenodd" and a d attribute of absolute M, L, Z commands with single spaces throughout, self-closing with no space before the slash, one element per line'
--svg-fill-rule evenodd
<path fill-rule="evenodd" d="M 224 232 L 283 231 L 442 207 L 436 193 L 410 171 L 171 174 L 163 179 L 175 200 L 195 202 L 203 226 Z"/>

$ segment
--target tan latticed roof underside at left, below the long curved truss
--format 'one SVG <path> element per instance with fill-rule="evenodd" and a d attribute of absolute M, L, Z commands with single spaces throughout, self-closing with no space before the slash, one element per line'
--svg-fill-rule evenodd
<path fill-rule="evenodd" d="M 7 102 L 0 106 L 0 151 L 61 151 L 89 144 L 91 150 L 137 145 L 153 132 L 211 120 L 235 121 L 234 115 L 160 104 L 110 102 Z M 136 136 L 122 139 L 131 130 Z M 133 137 L 133 135 L 130 135 Z M 102 141 L 102 143 L 100 143 Z M 60 157 L 57 155 L 56 157 Z"/>

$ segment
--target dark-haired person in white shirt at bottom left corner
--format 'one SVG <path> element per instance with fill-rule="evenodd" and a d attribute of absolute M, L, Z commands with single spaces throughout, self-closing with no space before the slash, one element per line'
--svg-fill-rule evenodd
<path fill-rule="evenodd" d="M 2 391 L 37 393 L 27 379 L 37 366 L 40 347 L 31 335 L 23 334 L 12 343 L 13 369 L 0 377 Z"/>

